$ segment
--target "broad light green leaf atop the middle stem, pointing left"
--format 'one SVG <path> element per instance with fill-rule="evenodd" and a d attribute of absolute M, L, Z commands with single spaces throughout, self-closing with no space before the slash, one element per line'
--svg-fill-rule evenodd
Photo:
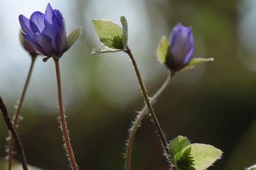
<path fill-rule="evenodd" d="M 124 50 L 124 33 L 117 24 L 106 20 L 92 19 L 100 42 L 112 50 Z"/>

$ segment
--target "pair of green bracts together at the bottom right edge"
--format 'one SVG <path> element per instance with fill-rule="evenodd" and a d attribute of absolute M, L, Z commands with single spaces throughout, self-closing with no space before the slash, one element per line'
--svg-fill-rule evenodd
<path fill-rule="evenodd" d="M 211 145 L 191 144 L 182 136 L 169 144 L 171 160 L 177 170 L 203 170 L 220 159 L 222 152 Z"/>

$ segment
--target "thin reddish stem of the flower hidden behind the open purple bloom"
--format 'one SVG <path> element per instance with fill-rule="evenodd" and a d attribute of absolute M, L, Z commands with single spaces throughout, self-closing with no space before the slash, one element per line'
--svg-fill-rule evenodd
<path fill-rule="evenodd" d="M 23 101 L 26 96 L 26 91 L 28 89 L 28 84 L 31 79 L 31 74 L 33 72 L 33 66 L 35 64 L 35 61 L 36 61 L 36 56 L 31 56 L 31 66 L 28 71 L 28 77 L 26 78 L 26 82 L 25 82 L 25 85 L 24 85 L 24 88 L 23 88 L 23 91 L 21 94 L 21 98 L 18 102 L 18 108 L 17 108 L 16 113 L 13 118 L 13 124 L 14 124 L 15 129 L 18 127 L 18 118 L 21 115 L 21 108 L 23 106 Z M 9 135 L 9 143 L 8 143 L 8 170 L 11 170 L 13 151 L 14 151 L 14 137 L 10 134 Z"/>

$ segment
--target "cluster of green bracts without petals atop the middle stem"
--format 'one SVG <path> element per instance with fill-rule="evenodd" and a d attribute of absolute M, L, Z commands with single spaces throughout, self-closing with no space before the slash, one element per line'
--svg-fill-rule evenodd
<path fill-rule="evenodd" d="M 111 21 L 92 19 L 95 32 L 97 33 L 100 42 L 107 47 L 107 50 L 92 50 L 92 53 L 97 52 L 117 52 L 127 50 L 128 26 L 124 16 L 120 18 L 122 28 Z"/>

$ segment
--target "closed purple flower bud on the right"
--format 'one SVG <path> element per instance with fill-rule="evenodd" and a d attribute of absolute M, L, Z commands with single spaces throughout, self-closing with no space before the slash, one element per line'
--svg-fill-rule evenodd
<path fill-rule="evenodd" d="M 178 23 L 171 32 L 169 43 L 172 59 L 169 61 L 169 67 L 174 71 L 182 69 L 191 61 L 194 50 L 191 30 L 191 27 L 187 28 Z"/>

